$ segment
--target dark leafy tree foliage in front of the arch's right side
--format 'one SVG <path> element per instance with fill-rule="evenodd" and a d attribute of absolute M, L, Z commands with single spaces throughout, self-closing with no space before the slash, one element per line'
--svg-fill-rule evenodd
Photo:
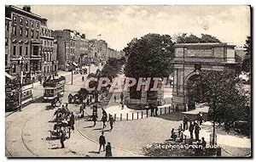
<path fill-rule="evenodd" d="M 224 123 L 226 128 L 237 120 L 251 123 L 248 98 L 233 70 L 202 71 L 195 81 L 188 81 L 188 92 L 196 102 L 208 103 L 212 119 Z"/>

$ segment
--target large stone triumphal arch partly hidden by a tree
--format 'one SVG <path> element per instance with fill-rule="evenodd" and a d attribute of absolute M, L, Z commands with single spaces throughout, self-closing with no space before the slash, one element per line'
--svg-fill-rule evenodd
<path fill-rule="evenodd" d="M 173 59 L 172 107 L 188 111 L 187 82 L 201 70 L 234 69 L 235 46 L 227 43 L 178 43 Z"/>

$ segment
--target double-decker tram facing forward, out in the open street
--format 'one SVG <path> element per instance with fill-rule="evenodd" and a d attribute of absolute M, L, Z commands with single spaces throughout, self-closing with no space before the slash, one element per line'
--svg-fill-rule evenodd
<path fill-rule="evenodd" d="M 66 78 L 64 76 L 44 81 L 44 101 L 52 101 L 54 98 L 57 98 L 58 94 L 61 94 L 62 97 L 65 91 L 65 83 Z"/>

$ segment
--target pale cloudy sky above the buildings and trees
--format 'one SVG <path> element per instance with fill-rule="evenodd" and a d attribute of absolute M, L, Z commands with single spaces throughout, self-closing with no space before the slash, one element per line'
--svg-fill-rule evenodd
<path fill-rule="evenodd" d="M 22 6 L 18 6 L 22 8 Z M 32 13 L 48 19 L 52 30 L 71 29 L 86 38 L 108 42 L 121 50 L 134 37 L 148 33 L 201 33 L 217 36 L 222 42 L 243 46 L 250 36 L 248 6 L 37 6 Z M 101 34 L 101 37 L 98 35 Z"/>

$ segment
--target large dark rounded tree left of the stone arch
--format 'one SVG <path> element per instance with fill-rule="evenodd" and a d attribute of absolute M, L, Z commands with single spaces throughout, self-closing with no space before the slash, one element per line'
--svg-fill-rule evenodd
<path fill-rule="evenodd" d="M 125 75 L 128 77 L 166 77 L 172 73 L 174 47 L 172 37 L 147 34 L 133 39 L 124 48 L 128 60 Z"/>

